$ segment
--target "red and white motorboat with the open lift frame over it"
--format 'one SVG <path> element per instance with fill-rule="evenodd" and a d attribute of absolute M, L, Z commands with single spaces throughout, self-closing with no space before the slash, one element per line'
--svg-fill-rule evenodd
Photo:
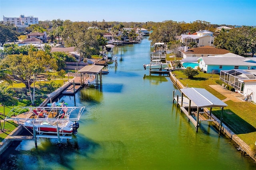
<path fill-rule="evenodd" d="M 17 121 L 26 129 L 32 129 L 37 137 L 64 138 L 77 134 L 79 119 L 85 107 L 15 107 L 6 120 Z M 44 135 L 41 135 L 44 134 Z M 66 138 L 68 139 L 68 138 Z M 71 139 L 71 138 L 70 138 Z"/>

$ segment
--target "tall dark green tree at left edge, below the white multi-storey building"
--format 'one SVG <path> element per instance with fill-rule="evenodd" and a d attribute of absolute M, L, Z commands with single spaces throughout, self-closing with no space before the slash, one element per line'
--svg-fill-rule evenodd
<path fill-rule="evenodd" d="M 0 24 L 0 45 L 4 46 L 6 42 L 18 41 L 18 33 L 12 25 Z"/>

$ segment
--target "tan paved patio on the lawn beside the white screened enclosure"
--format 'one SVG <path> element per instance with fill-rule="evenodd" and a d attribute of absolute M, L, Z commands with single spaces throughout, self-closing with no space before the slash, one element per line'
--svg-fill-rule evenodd
<path fill-rule="evenodd" d="M 244 96 L 240 93 L 234 93 L 231 92 L 230 90 L 226 90 L 222 88 L 219 84 L 217 85 L 209 85 L 211 88 L 219 92 L 220 94 L 226 96 L 226 99 L 222 100 L 223 102 L 226 102 L 228 100 L 232 100 L 233 102 L 245 102 L 244 101 Z"/>

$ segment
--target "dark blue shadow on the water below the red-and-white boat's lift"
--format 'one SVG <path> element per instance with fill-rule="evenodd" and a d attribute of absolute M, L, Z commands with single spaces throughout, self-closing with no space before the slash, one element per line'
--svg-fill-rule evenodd
<path fill-rule="evenodd" d="M 16 154 L 5 153 L 6 159 L 1 163 L 1 170 L 11 169 L 69 169 L 75 170 L 72 166 L 76 157 L 89 158 L 96 150 L 100 149 L 100 145 L 86 137 L 79 136 L 82 143 L 79 143 L 73 135 L 72 140 L 63 140 L 58 143 L 54 139 L 40 139 L 38 140 L 38 148 L 32 147 L 34 141 L 22 141 L 22 145 L 15 148 Z M 18 154 L 17 154 L 18 153 Z M 49 166 L 51 162 L 52 166 Z"/>

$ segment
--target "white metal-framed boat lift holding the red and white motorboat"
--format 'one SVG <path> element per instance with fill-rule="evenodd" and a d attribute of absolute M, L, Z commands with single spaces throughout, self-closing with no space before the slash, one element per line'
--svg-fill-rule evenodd
<path fill-rule="evenodd" d="M 14 121 L 22 126 L 31 134 L 29 136 L 18 136 L 18 135 L 9 135 L 10 140 L 34 140 L 37 147 L 37 139 L 39 138 L 55 138 L 58 139 L 58 143 L 62 139 L 72 139 L 72 134 L 67 135 L 63 131 L 59 130 L 58 124 L 64 123 L 65 121 L 79 121 L 82 113 L 84 112 L 85 107 L 14 107 L 7 114 L 5 121 Z M 66 112 L 64 111 L 66 110 Z M 63 114 L 60 117 L 60 114 Z M 33 124 L 32 131 L 23 125 L 26 121 L 31 121 Z M 36 128 L 40 129 L 40 122 L 56 122 L 57 131 L 54 132 L 41 132 L 40 130 L 36 131 Z M 37 127 L 35 122 L 38 123 Z"/>

